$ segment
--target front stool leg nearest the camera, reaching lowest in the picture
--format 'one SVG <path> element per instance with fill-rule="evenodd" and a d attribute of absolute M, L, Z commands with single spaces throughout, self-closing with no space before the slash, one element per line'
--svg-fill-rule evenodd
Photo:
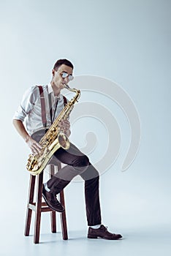
<path fill-rule="evenodd" d="M 43 181 L 43 172 L 37 175 L 37 200 L 36 200 L 35 223 L 34 223 L 34 244 L 39 244 L 39 229 L 40 229 L 41 208 L 42 208 L 42 181 Z"/>

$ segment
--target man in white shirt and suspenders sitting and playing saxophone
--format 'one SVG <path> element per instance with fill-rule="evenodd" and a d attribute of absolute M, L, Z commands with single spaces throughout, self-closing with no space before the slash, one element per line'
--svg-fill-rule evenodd
<path fill-rule="evenodd" d="M 45 96 L 46 124 L 42 124 L 41 100 L 39 87 L 32 86 L 26 91 L 23 100 L 15 112 L 13 124 L 21 137 L 33 154 L 41 150 L 39 139 L 42 136 L 42 130 L 50 128 L 53 121 L 61 113 L 66 104 L 66 99 L 61 95 L 61 89 L 64 85 L 73 79 L 73 65 L 66 59 L 56 61 L 53 67 L 53 78 L 50 84 L 42 86 Z M 26 121 L 26 128 L 23 125 Z M 66 136 L 70 135 L 69 120 L 61 120 L 59 126 Z M 56 195 L 77 175 L 85 180 L 85 197 L 86 197 L 86 215 L 88 222 L 88 238 L 104 238 L 117 240 L 122 236 L 120 234 L 110 233 L 107 227 L 101 223 L 101 209 L 99 203 L 99 173 L 89 162 L 86 155 L 71 143 L 68 150 L 59 148 L 54 157 L 66 164 L 55 176 L 50 178 L 43 185 L 42 195 L 47 205 L 55 211 L 62 212 L 64 207 L 58 202 Z"/>

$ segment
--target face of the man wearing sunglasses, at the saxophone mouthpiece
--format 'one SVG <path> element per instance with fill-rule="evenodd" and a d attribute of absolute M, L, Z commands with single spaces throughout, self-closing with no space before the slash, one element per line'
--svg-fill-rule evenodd
<path fill-rule="evenodd" d="M 66 78 L 62 77 L 63 72 L 68 74 Z M 72 67 L 66 66 L 65 64 L 62 64 L 60 67 L 58 67 L 57 71 L 53 69 L 53 84 L 58 89 L 63 89 L 64 84 L 69 83 L 69 75 L 72 75 L 72 72 Z"/>

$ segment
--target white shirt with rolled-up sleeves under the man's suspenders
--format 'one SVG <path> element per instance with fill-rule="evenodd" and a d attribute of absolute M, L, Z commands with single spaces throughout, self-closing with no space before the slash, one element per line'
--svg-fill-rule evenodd
<path fill-rule="evenodd" d="M 47 118 L 47 128 L 51 126 L 50 119 L 50 106 L 48 94 L 51 95 L 52 99 L 52 116 L 53 120 L 57 118 L 61 110 L 64 108 L 64 98 L 62 94 L 55 96 L 53 94 L 53 88 L 51 84 L 42 86 L 45 96 L 45 110 L 46 110 L 46 118 Z M 56 102 L 58 100 L 58 105 L 56 108 Z M 56 109 L 56 113 L 54 116 L 54 111 Z M 34 132 L 37 132 L 39 129 L 43 129 L 42 124 L 42 110 L 41 103 L 39 97 L 39 88 L 38 86 L 31 86 L 25 94 L 23 95 L 23 99 L 18 107 L 18 110 L 15 112 L 13 119 L 17 119 L 25 122 L 25 127 L 29 135 L 32 135 Z"/>

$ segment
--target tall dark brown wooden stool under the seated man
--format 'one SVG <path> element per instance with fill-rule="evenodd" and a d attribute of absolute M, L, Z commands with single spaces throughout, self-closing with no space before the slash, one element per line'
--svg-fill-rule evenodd
<path fill-rule="evenodd" d="M 55 166 L 50 166 L 50 177 L 55 173 Z M 58 170 L 61 169 L 61 162 L 58 162 Z M 25 236 L 29 236 L 30 225 L 31 225 L 31 214 L 32 211 L 35 211 L 35 220 L 34 220 L 34 244 L 39 244 L 39 228 L 40 228 L 40 220 L 41 220 L 41 213 L 50 211 L 51 217 L 51 231 L 52 233 L 56 233 L 56 211 L 50 209 L 45 202 L 42 202 L 42 184 L 43 184 L 43 173 L 38 174 L 37 176 L 30 175 L 30 183 L 28 189 L 28 205 L 27 205 L 27 212 L 26 212 L 26 226 L 25 226 Z M 34 202 L 34 187 L 35 187 L 35 180 L 37 177 L 37 195 L 36 200 Z M 64 202 L 64 191 L 60 192 L 60 202 L 62 206 L 65 207 Z M 61 217 L 61 230 L 62 236 L 64 240 L 68 239 L 67 234 L 67 227 L 66 227 L 66 213 L 65 211 L 60 214 Z"/>

